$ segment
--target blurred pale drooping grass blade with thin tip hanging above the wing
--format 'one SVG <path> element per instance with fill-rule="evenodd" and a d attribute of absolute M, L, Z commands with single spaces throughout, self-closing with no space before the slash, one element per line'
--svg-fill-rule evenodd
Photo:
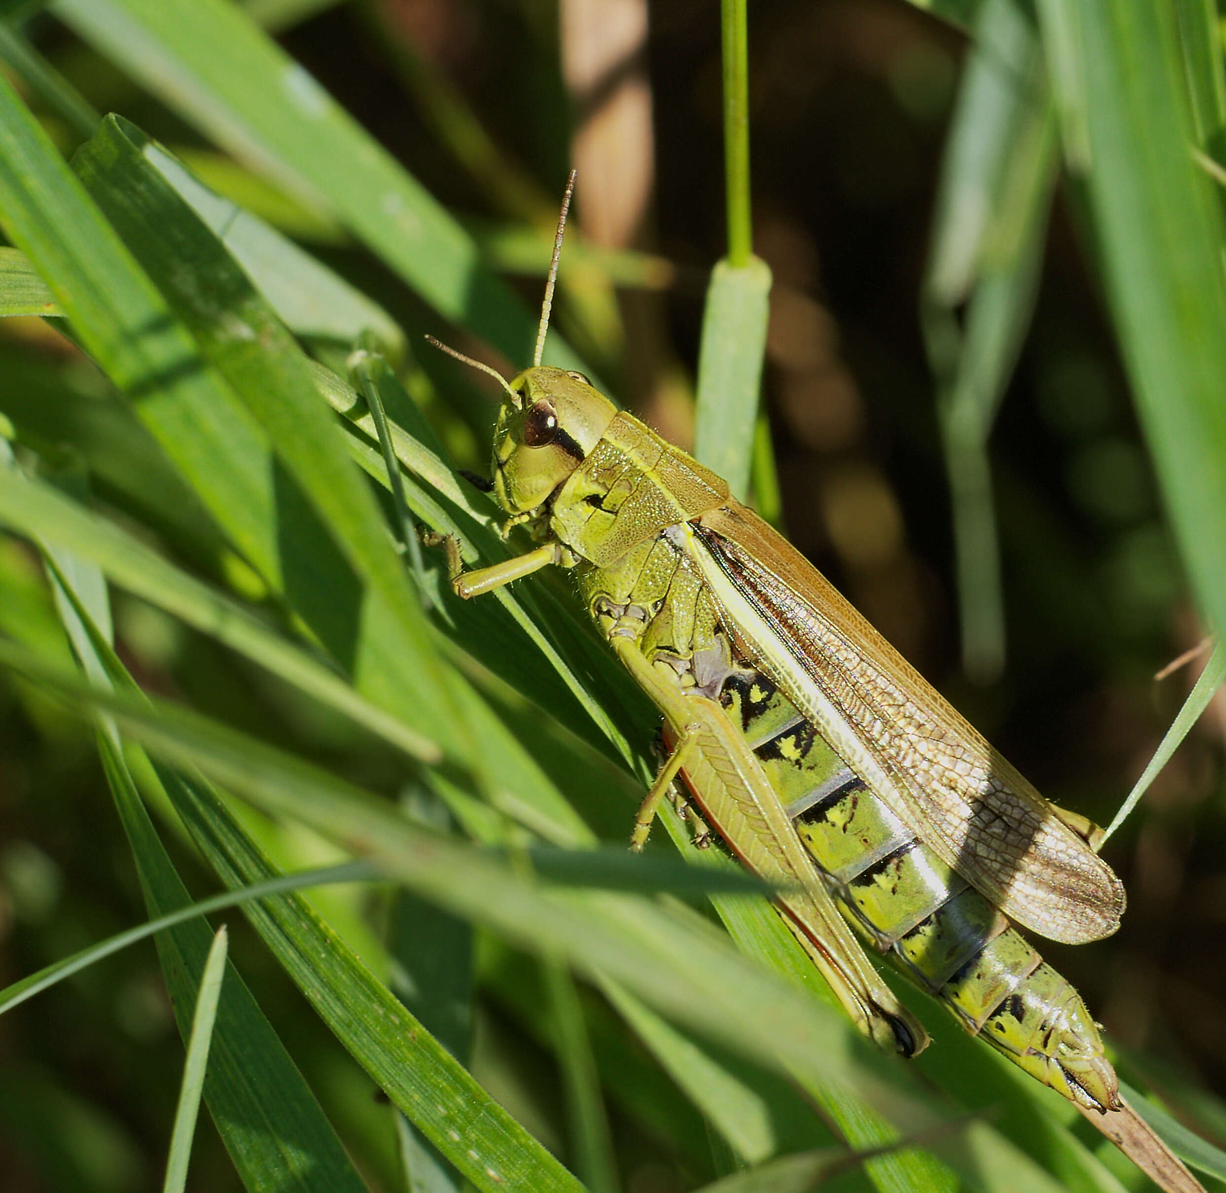
<path fill-rule="evenodd" d="M 1030 17 L 986 0 L 946 142 L 921 298 L 953 498 L 962 667 L 1004 667 L 988 439 L 1038 288 L 1054 184 L 1054 120 Z M 964 307 L 965 313 L 964 313 Z"/>

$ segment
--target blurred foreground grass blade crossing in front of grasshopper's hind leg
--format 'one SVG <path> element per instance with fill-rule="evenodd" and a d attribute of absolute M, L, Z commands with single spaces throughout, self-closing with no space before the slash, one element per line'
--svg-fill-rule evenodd
<path fill-rule="evenodd" d="M 666 913 L 625 895 L 549 889 L 514 867 L 411 825 L 381 801 L 318 768 L 186 710 L 83 688 L 0 641 L 0 662 L 115 718 L 121 731 L 179 766 L 199 766 L 235 795 L 359 848 L 390 877 L 584 972 L 617 972 L 652 1005 L 684 1007 L 687 1021 L 776 1068 L 845 1083 L 893 1113 L 927 1124 L 932 1112 L 904 1092 L 904 1069 L 840 1016 L 749 964 L 693 913 Z M 782 929 L 786 931 L 786 929 Z M 753 1005 L 745 1016 L 738 1008 Z"/>

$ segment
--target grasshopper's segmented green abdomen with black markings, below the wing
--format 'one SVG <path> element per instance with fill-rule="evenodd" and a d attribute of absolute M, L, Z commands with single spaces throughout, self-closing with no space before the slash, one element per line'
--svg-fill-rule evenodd
<path fill-rule="evenodd" d="M 769 677 L 745 668 L 720 699 L 852 926 L 967 1031 L 1067 1097 L 1113 1105 L 1114 1074 L 1080 996 L 1009 921 L 864 786 Z"/>

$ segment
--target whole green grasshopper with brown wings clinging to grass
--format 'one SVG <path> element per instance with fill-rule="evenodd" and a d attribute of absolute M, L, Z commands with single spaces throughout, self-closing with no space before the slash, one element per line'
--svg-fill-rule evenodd
<path fill-rule="evenodd" d="M 668 757 L 641 848 L 680 777 L 777 906 L 856 1025 L 906 1056 L 928 1042 L 856 933 L 962 1026 L 1080 1106 L 1119 1110 L 1080 996 L 1010 926 L 1081 943 L 1116 931 L 1119 879 L 1087 820 L 1043 799 L 727 484 L 580 373 L 541 364 L 505 398 L 488 488 L 541 543 L 462 573 L 468 598 L 550 564 L 664 718 Z M 853 931 L 855 929 L 855 931 Z"/>

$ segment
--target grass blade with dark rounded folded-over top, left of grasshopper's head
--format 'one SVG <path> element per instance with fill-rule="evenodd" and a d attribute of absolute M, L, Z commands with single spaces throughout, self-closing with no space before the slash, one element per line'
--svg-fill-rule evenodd
<path fill-rule="evenodd" d="M 391 704 L 457 757 L 473 757 L 452 704 L 451 677 L 378 505 L 314 398 L 305 357 L 224 246 L 150 166 L 152 145 L 135 125 L 108 116 L 74 164 L 205 359 L 276 445 L 277 459 L 364 589 L 354 673 L 381 689 L 376 703 Z M 162 234 L 148 237 L 150 227 Z M 195 266 L 191 275 L 181 267 L 184 256 Z"/>

